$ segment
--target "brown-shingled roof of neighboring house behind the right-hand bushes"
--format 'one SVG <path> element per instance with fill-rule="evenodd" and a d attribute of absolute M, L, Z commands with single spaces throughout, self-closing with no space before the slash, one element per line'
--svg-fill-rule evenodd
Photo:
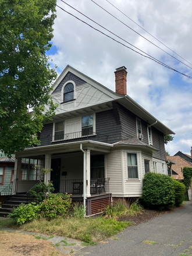
<path fill-rule="evenodd" d="M 180 151 L 179 151 L 180 152 Z M 166 157 L 168 161 L 175 162 L 174 165 L 172 165 L 172 177 L 176 180 L 183 180 L 183 168 L 184 167 L 191 167 L 192 164 L 182 157 L 179 156 L 173 156 L 173 157 Z M 169 174 L 169 173 L 168 173 Z"/>

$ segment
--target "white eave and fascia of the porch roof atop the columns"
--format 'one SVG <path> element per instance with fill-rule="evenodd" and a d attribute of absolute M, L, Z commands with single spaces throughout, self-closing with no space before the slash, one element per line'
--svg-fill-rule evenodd
<path fill-rule="evenodd" d="M 27 158 L 27 157 L 37 156 L 37 155 L 74 152 L 74 151 L 80 151 L 80 144 L 82 144 L 83 150 L 93 150 L 93 151 L 104 152 L 104 153 L 111 152 L 111 148 L 113 147 L 112 144 L 86 140 L 86 141 L 75 141 L 72 143 L 47 145 L 47 146 L 42 146 L 37 148 L 35 147 L 26 148 L 22 152 L 15 152 L 15 154 L 16 154 L 16 157 Z"/>

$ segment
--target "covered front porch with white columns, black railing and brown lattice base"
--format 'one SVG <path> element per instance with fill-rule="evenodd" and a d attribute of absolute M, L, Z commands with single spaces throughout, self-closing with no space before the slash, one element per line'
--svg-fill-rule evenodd
<path fill-rule="evenodd" d="M 52 169 L 44 175 L 44 182 L 51 181 L 55 193 L 68 193 L 73 201 L 83 201 L 88 215 L 96 214 L 104 204 L 111 203 L 105 165 L 105 154 L 111 147 L 111 144 L 88 140 L 27 148 L 16 154 L 17 193 L 29 191 L 41 177 L 42 168 Z M 25 170 L 23 161 L 28 163 Z"/>

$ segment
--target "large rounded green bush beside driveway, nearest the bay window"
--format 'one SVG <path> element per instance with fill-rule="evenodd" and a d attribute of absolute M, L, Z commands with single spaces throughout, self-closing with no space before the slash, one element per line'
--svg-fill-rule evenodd
<path fill-rule="evenodd" d="M 172 207 L 175 204 L 173 179 L 168 175 L 148 172 L 143 179 L 141 200 L 149 208 Z"/>

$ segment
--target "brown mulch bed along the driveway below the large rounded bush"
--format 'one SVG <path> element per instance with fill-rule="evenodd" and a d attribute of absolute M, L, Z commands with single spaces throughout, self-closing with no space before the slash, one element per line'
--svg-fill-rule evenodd
<path fill-rule="evenodd" d="M 119 221 L 131 221 L 134 223 L 134 225 L 138 225 L 140 223 L 150 221 L 150 219 L 154 219 L 162 214 L 171 214 L 176 209 L 179 209 L 182 207 L 183 206 L 176 207 L 176 208 L 170 209 L 169 211 L 156 211 L 156 210 L 144 209 L 144 211 L 142 211 L 142 214 L 138 214 L 137 216 L 121 216 L 119 218 Z"/>

